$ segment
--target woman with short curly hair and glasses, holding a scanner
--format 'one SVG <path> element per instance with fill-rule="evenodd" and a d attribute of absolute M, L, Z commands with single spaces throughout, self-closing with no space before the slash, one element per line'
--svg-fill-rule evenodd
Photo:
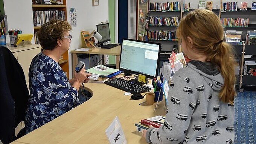
<path fill-rule="evenodd" d="M 79 105 L 78 90 L 88 82 L 90 73 L 85 69 L 74 73 L 68 80 L 58 64 L 59 58 L 69 50 L 72 29 L 67 21 L 50 20 L 38 31 L 43 48 L 32 60 L 29 68 L 30 98 L 25 118 L 26 133 L 48 123 Z"/>

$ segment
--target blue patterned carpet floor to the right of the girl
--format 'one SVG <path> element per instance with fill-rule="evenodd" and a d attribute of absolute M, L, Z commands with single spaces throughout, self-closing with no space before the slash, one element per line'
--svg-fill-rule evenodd
<path fill-rule="evenodd" d="M 237 92 L 234 144 L 256 144 L 256 91 Z"/>

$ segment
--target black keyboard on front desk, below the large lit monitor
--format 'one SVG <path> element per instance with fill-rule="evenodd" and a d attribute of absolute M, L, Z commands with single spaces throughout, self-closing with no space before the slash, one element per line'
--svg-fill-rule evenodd
<path fill-rule="evenodd" d="M 147 92 L 150 89 L 146 86 L 138 85 L 136 83 L 132 83 L 121 78 L 111 79 L 104 83 L 115 88 L 121 89 L 123 91 L 131 92 L 132 94 L 140 94 L 143 92 Z"/>

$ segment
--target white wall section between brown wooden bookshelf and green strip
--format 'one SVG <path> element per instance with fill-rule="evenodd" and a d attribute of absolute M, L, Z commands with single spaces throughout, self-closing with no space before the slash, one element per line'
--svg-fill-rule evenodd
<path fill-rule="evenodd" d="M 99 1 L 99 6 L 92 6 L 92 0 L 67 0 L 67 21 L 69 19 L 69 8 L 75 8 L 77 11 L 77 26 L 72 27 L 70 34 L 72 42 L 69 49 L 69 75 L 72 78 L 72 56 L 70 51 L 84 47 L 81 41 L 80 30 L 96 29 L 96 24 L 108 20 L 108 0 Z M 95 39 L 97 41 L 97 39 Z"/>

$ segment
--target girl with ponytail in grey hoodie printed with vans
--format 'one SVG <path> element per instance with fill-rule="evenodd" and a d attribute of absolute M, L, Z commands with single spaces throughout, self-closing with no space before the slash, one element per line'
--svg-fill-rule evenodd
<path fill-rule="evenodd" d="M 191 61 L 172 78 L 164 124 L 144 130 L 144 138 L 152 144 L 233 143 L 236 62 L 219 18 L 195 10 L 182 18 L 176 35 Z"/>

